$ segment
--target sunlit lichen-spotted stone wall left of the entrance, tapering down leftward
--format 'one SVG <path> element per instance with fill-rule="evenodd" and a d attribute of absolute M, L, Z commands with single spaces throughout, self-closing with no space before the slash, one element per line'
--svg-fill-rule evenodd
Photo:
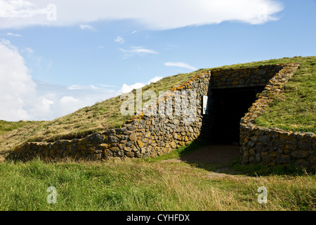
<path fill-rule="evenodd" d="M 13 157 L 103 160 L 112 157 L 155 157 L 169 153 L 199 137 L 204 117 L 201 113 L 201 99 L 208 93 L 210 76 L 210 72 L 204 72 L 183 84 L 173 86 L 119 129 L 98 132 L 84 139 L 25 143 L 14 150 Z M 190 101 L 192 95 L 196 101 Z M 175 109 L 186 97 L 187 115 L 183 115 L 183 112 L 179 114 Z M 193 107 L 191 102 L 195 103 Z M 167 103 L 172 103 L 173 107 L 169 108 Z M 190 108 L 193 109 L 190 111 Z M 156 113 L 152 113 L 153 109 Z"/>

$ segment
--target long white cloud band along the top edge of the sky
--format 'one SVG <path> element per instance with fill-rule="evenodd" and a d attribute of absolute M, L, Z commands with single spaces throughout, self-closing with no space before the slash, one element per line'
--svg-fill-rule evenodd
<path fill-rule="evenodd" d="M 47 18 L 51 3 L 57 9 L 57 20 L 53 21 Z M 277 0 L 0 0 L 0 28 L 68 26 L 100 20 L 135 20 L 152 30 L 224 21 L 256 25 L 277 20 L 275 14 L 283 8 Z"/>

